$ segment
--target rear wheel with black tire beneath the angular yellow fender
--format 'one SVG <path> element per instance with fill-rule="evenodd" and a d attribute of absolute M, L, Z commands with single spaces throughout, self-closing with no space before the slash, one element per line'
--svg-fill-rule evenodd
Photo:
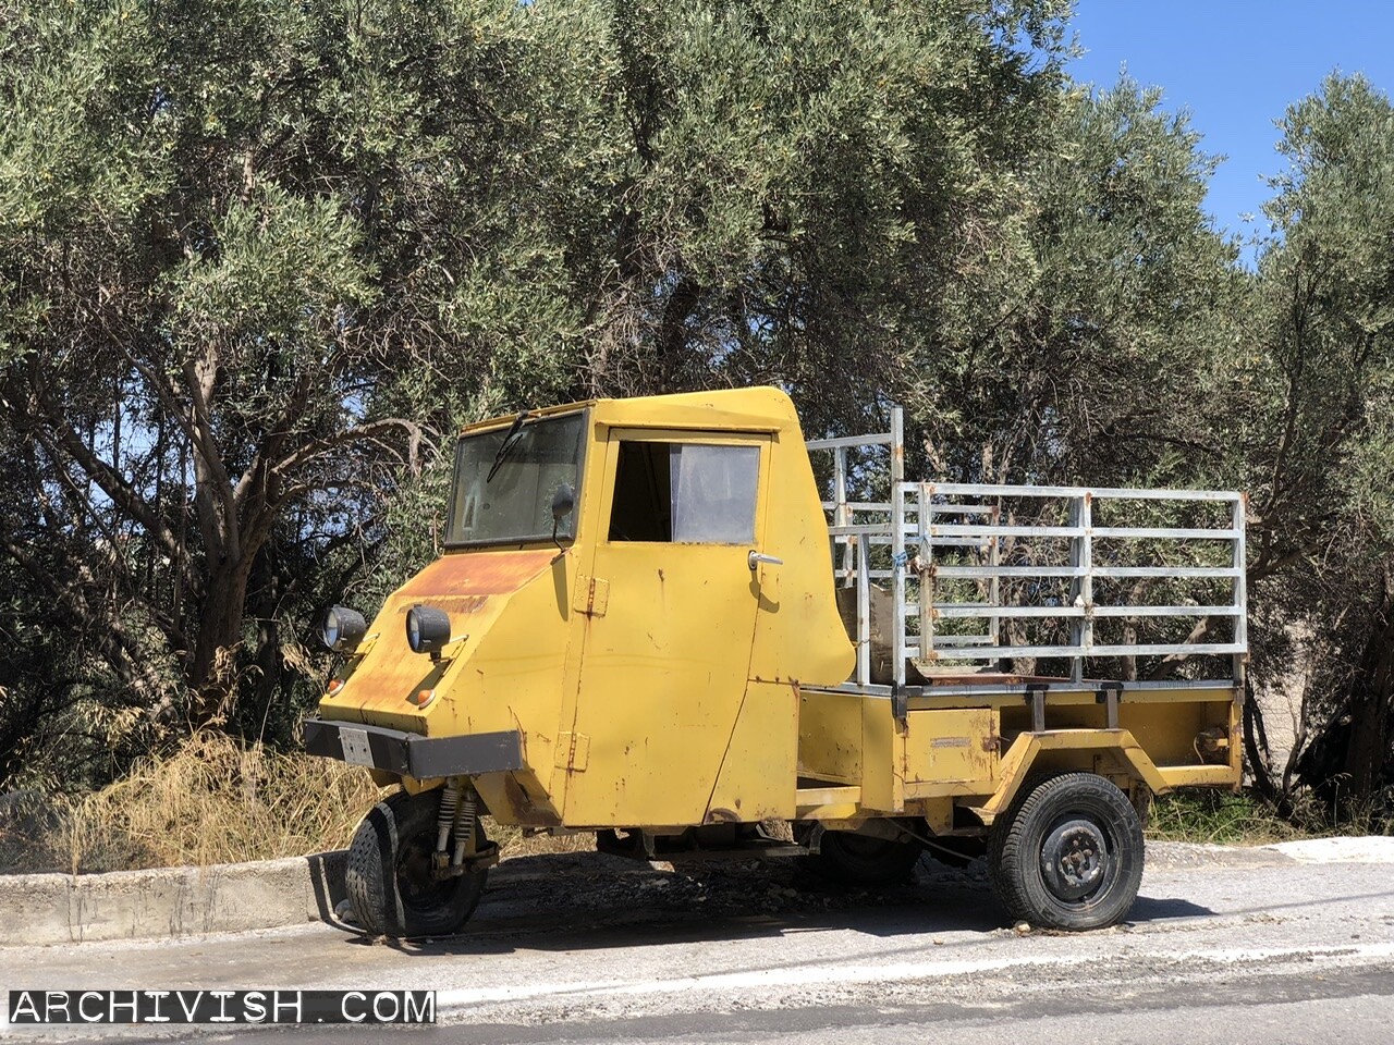
<path fill-rule="evenodd" d="M 1142 885 L 1142 821 L 1101 776 L 1051 776 L 993 826 L 990 865 L 1013 918 L 1047 929 L 1115 925 Z"/>

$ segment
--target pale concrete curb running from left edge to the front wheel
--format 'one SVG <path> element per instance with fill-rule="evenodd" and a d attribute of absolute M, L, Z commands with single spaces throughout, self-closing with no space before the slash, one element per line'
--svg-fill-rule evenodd
<path fill-rule="evenodd" d="M 329 921 L 344 851 L 251 864 L 0 875 L 0 946 L 270 929 Z"/>

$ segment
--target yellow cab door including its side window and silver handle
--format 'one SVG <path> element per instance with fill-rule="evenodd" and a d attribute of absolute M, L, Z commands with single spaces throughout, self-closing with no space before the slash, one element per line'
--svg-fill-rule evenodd
<path fill-rule="evenodd" d="M 567 825 L 701 823 L 746 692 L 769 446 L 758 433 L 611 432 L 553 777 Z"/>

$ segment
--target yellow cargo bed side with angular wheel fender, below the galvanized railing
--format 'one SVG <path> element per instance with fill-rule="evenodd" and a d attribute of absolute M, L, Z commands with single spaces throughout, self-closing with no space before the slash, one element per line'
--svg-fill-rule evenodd
<path fill-rule="evenodd" d="M 948 832 L 953 807 L 990 826 L 1041 772 L 1100 773 L 1139 800 L 1174 787 L 1239 786 L 1236 690 L 1126 692 L 1114 729 L 1096 690 L 1052 691 L 1041 732 L 1023 698 L 1008 692 L 910 697 L 903 723 L 885 697 L 806 690 L 800 704 L 799 818 L 827 826 L 924 816 Z M 1214 761 L 1197 750 L 1206 730 L 1224 737 Z"/>

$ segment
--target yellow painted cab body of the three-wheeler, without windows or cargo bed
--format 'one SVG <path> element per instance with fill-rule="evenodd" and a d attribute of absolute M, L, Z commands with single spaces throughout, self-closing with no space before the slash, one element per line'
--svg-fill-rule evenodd
<path fill-rule="evenodd" d="M 799 686 L 835 686 L 853 665 L 793 404 L 744 389 L 545 414 L 581 410 L 576 541 L 442 556 L 386 601 L 321 715 L 427 736 L 519 730 L 527 768 L 475 780 L 503 822 L 793 816 Z M 606 539 L 620 442 L 757 447 L 754 541 Z M 753 571 L 751 550 L 782 564 Z M 450 614 L 439 665 L 407 648 L 418 603 Z M 418 708 L 422 690 L 435 695 Z"/>

